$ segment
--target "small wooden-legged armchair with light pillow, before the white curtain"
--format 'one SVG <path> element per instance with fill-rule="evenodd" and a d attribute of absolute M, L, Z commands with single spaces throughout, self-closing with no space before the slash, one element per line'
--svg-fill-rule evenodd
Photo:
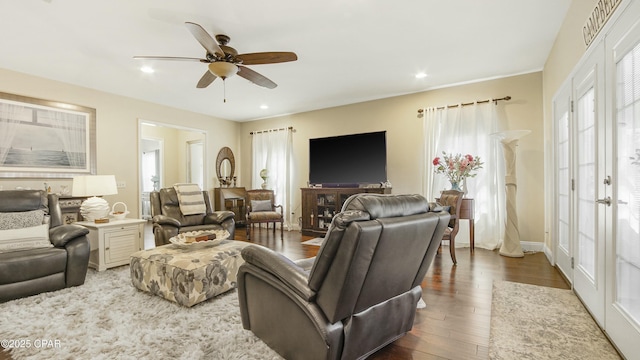
<path fill-rule="evenodd" d="M 280 211 L 277 211 L 278 209 Z M 246 220 L 247 240 L 251 239 L 253 224 L 267 224 L 268 229 L 269 223 L 273 223 L 273 233 L 275 234 L 276 223 L 280 223 L 280 240 L 284 237 L 282 205 L 276 205 L 273 190 L 247 190 Z"/>

